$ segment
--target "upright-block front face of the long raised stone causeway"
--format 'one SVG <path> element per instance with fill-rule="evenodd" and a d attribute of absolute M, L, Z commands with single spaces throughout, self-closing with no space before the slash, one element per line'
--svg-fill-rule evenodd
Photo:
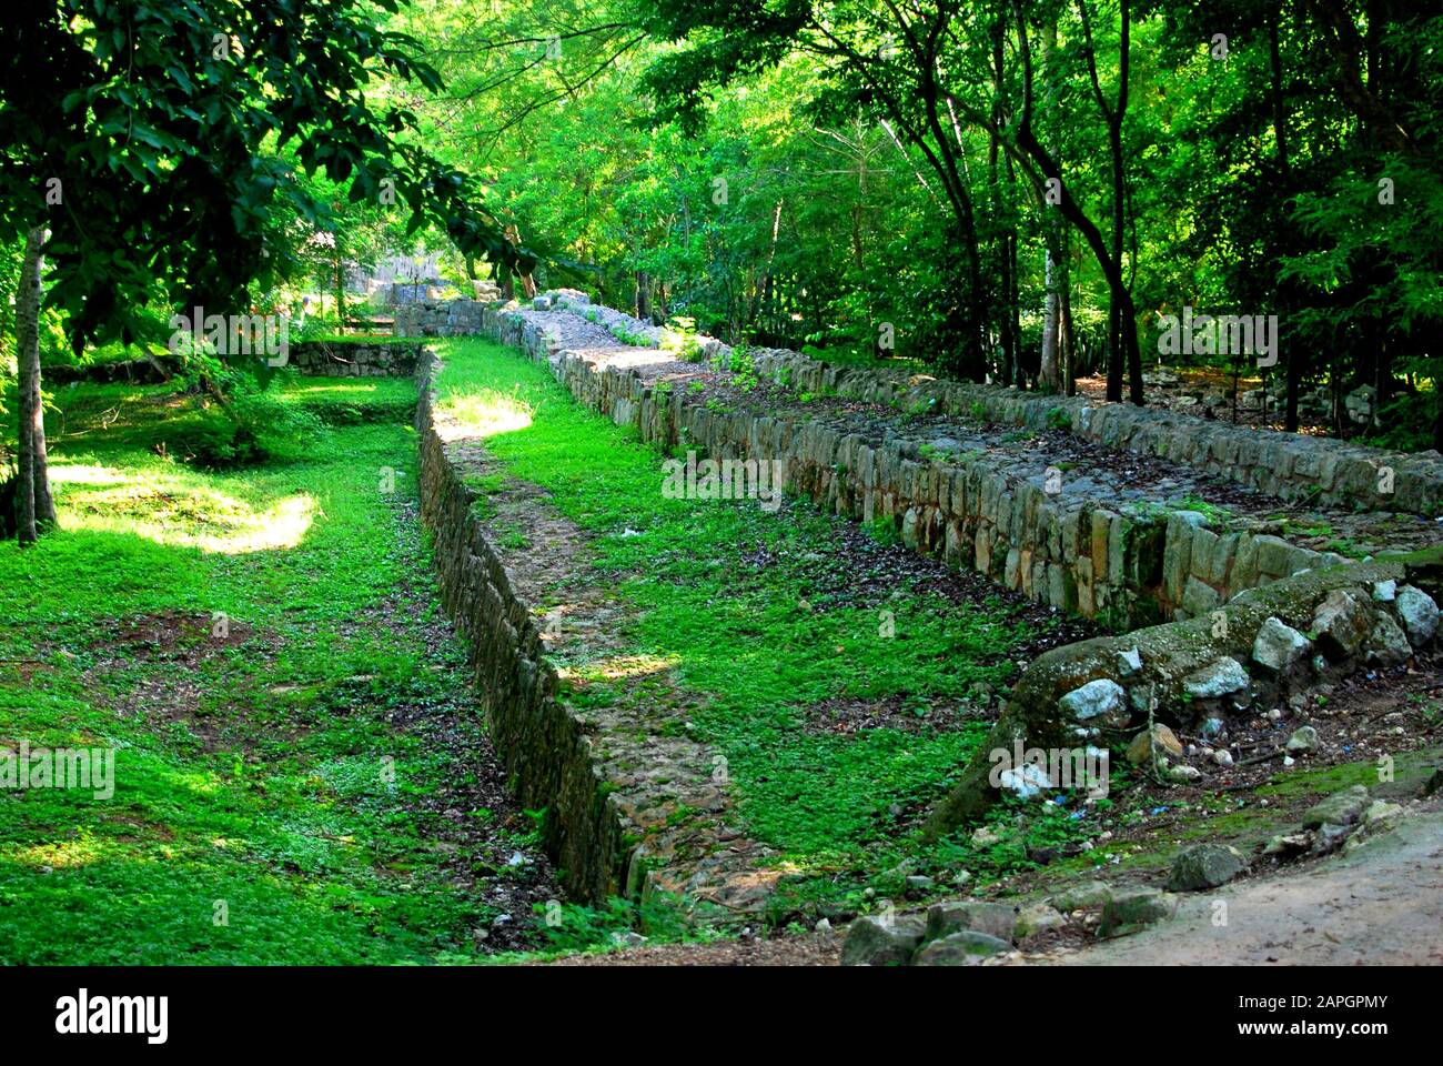
<path fill-rule="evenodd" d="M 608 312 L 608 328 L 626 331 L 626 321 L 635 322 Z M 485 331 L 551 360 L 577 400 L 662 451 L 684 445 L 713 459 L 781 461 L 788 491 L 860 521 L 889 521 L 908 547 L 1115 628 L 1196 617 L 1242 589 L 1345 562 L 1271 534 L 1215 532 L 1190 511 L 1120 513 L 1055 497 L 996 471 L 984 456 L 929 459 L 906 439 L 869 443 L 821 423 L 711 410 L 688 402 L 684 390 L 648 387 L 633 367 L 560 350 L 544 325 L 514 308 L 488 309 Z"/>

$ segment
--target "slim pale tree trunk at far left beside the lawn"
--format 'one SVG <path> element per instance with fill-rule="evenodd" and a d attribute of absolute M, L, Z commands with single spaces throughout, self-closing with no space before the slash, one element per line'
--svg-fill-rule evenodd
<path fill-rule="evenodd" d="M 16 482 L 16 526 L 22 545 L 35 543 L 55 526 L 49 456 L 45 448 L 45 406 L 40 399 L 40 272 L 45 269 L 43 228 L 30 230 L 16 293 L 14 319 L 19 344 L 20 449 Z"/>

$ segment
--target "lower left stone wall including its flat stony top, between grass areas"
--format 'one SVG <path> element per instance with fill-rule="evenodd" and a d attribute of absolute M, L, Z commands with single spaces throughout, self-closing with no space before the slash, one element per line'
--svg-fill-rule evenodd
<path fill-rule="evenodd" d="M 470 647 L 489 734 L 514 787 L 527 806 L 547 812 L 543 838 L 567 888 L 595 903 L 665 894 L 690 909 L 707 907 L 717 920 L 753 914 L 784 871 L 769 868 L 766 848 L 729 826 L 736 815 L 716 780 L 717 753 L 687 735 L 685 706 L 671 709 L 668 722 L 668 709 L 654 698 L 638 706 L 563 698 L 554 653 L 569 646 L 544 631 L 540 589 L 567 589 L 561 628 L 593 634 L 586 641 L 592 654 L 610 647 L 595 634 L 623 628 L 622 608 L 589 585 L 584 562 L 558 547 L 569 542 L 584 550 L 580 537 L 569 540 L 558 516 L 545 519 L 551 552 L 508 552 L 494 543 L 494 527 L 473 507 L 466 482 L 485 452 L 437 417 L 431 367 L 427 352 L 416 428 L 421 513 L 436 530 L 442 601 Z M 488 511 L 495 500 L 488 497 Z M 525 506 L 532 519 L 543 507 L 535 500 Z"/>

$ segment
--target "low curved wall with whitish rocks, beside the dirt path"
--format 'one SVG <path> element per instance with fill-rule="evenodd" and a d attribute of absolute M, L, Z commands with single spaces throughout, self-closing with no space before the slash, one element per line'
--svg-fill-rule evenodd
<path fill-rule="evenodd" d="M 1150 721 L 1198 729 L 1206 718 L 1286 705 L 1356 670 L 1407 663 L 1437 640 L 1440 588 L 1443 549 L 1429 549 L 1313 569 L 1244 592 L 1208 618 L 1053 649 L 1022 672 L 928 833 L 978 818 L 1003 789 L 1040 790 L 1043 781 L 1026 776 L 999 787 L 994 751 L 1107 747 Z"/>

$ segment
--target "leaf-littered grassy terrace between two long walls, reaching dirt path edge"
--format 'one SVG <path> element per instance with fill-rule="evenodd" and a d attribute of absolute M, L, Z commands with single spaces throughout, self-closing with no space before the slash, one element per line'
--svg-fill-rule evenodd
<path fill-rule="evenodd" d="M 1107 797 L 1001 805 L 988 833 L 967 828 L 924 846 L 921 820 L 984 738 L 1006 683 L 1076 630 L 1049 636 L 1059 617 L 986 581 L 949 584 L 797 501 L 768 513 L 755 501 L 665 498 L 664 456 L 577 404 L 544 365 L 482 339 L 440 347 L 442 409 L 504 468 L 478 478 L 478 506 L 508 478 L 545 490 L 547 506 L 592 537 L 599 584 L 632 608 L 628 662 L 658 675 L 636 686 L 615 663 L 563 654 L 564 698 L 677 699 L 680 689 L 691 735 L 727 760 L 746 832 L 797 870 L 775 917 L 866 911 L 900 894 L 1010 894 L 1097 872 L 1154 878 L 1177 841 L 1253 845 L 1338 773 L 1375 771 L 1299 766 L 1257 796 L 1167 789 L 1136 777 L 1120 737 Z M 525 545 L 521 530 L 502 537 L 554 549 Z M 1294 724 L 1276 728 L 1286 737 Z M 906 874 L 932 885 L 909 887 Z"/>

